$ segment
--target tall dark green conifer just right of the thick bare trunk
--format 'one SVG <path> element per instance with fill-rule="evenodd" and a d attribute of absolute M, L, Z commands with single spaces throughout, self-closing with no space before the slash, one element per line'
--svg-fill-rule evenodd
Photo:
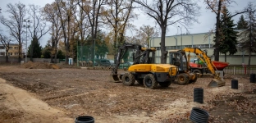
<path fill-rule="evenodd" d="M 226 62 L 226 53 L 229 52 L 229 55 L 235 54 L 237 52 L 236 45 L 237 43 L 237 34 L 235 31 L 234 20 L 231 20 L 230 12 L 224 8 L 223 14 L 221 16 L 221 45 L 219 46 L 220 52 L 225 54 L 225 62 Z"/>

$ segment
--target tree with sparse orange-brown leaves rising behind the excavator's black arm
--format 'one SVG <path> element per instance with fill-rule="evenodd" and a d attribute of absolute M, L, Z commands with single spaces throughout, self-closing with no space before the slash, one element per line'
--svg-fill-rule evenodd
<path fill-rule="evenodd" d="M 132 0 L 110 0 L 105 2 L 107 7 L 104 7 L 102 13 L 103 22 L 110 25 L 114 35 L 114 48 L 117 51 L 117 45 L 120 45 L 124 41 L 123 34 L 126 32 L 127 25 L 131 25 L 129 22 L 133 21 L 137 15 L 133 12 L 135 7 L 134 1 Z M 118 34 L 121 35 L 119 38 L 119 44 L 117 41 Z"/>

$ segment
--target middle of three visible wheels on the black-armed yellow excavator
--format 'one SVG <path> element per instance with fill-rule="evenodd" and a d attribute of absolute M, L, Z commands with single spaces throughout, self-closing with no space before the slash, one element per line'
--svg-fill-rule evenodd
<path fill-rule="evenodd" d="M 149 89 L 155 89 L 158 87 L 158 82 L 153 76 L 153 74 L 148 74 L 144 76 L 144 86 Z"/>

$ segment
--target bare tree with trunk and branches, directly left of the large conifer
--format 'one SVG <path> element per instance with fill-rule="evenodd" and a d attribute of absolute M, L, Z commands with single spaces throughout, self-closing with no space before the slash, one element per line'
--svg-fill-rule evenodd
<path fill-rule="evenodd" d="M 216 29 L 215 29 L 215 45 L 214 45 L 214 60 L 219 61 L 219 52 L 221 45 L 221 14 L 223 13 L 223 8 L 228 7 L 232 2 L 232 0 L 204 0 L 204 2 L 208 5 L 208 9 L 213 11 L 216 14 Z M 232 18 L 233 16 L 245 13 L 246 11 L 235 11 L 234 15 L 229 16 L 229 18 Z M 225 21 L 225 20 L 222 20 Z"/>

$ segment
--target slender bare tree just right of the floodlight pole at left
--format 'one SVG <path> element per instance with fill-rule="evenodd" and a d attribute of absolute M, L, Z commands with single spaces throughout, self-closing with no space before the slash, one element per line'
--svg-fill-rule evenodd
<path fill-rule="evenodd" d="M 31 48 L 30 48 L 30 61 L 33 62 L 33 54 L 34 54 L 34 42 L 39 42 L 39 40 L 43 37 L 44 34 L 48 33 L 49 29 L 47 28 L 46 21 L 43 20 L 43 12 L 40 10 L 39 6 L 35 6 L 33 4 L 29 5 L 30 12 L 29 15 L 32 18 L 33 25 L 30 30 L 31 36 Z"/>

